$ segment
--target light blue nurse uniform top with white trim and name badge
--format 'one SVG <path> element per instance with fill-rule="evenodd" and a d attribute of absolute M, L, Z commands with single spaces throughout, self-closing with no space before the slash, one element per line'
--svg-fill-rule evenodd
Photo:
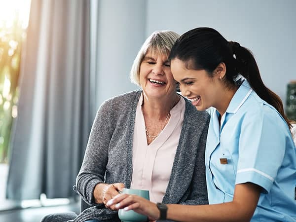
<path fill-rule="evenodd" d="M 284 118 L 244 80 L 219 123 L 210 108 L 206 145 L 209 203 L 232 201 L 234 186 L 262 187 L 252 222 L 296 221 L 296 148 Z"/>

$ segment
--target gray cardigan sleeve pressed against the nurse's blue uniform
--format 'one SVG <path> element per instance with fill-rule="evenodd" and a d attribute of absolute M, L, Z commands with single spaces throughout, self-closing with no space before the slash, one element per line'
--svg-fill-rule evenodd
<path fill-rule="evenodd" d="M 205 169 L 205 148 L 208 134 L 210 117 L 207 115 L 206 123 L 199 138 L 197 154 L 195 158 L 194 173 L 190 184 L 190 193 L 187 199 L 180 204 L 183 205 L 203 205 L 208 204 L 208 193 L 206 185 L 206 169 Z"/>

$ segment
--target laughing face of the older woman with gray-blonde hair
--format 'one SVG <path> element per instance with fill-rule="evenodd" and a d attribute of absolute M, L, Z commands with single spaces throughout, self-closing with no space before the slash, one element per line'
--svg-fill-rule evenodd
<path fill-rule="evenodd" d="M 168 57 L 148 51 L 140 65 L 140 85 L 147 96 L 161 98 L 176 93 Z"/>

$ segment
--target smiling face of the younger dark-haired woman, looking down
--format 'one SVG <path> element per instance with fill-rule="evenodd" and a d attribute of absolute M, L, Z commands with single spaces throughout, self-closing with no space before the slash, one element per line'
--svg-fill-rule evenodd
<path fill-rule="evenodd" d="M 199 111 L 216 107 L 221 94 L 218 75 L 210 77 L 205 70 L 188 70 L 179 59 L 171 61 L 172 74 L 180 84 L 182 95 L 191 101 Z"/>

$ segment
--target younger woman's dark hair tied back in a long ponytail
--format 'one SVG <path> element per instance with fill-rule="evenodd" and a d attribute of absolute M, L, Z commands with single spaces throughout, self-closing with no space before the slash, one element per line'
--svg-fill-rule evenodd
<path fill-rule="evenodd" d="M 292 128 L 281 99 L 264 85 L 253 54 L 239 43 L 228 42 L 215 29 L 196 28 L 175 42 L 169 60 L 175 58 L 183 61 L 187 69 L 206 70 L 210 77 L 214 76 L 213 71 L 218 65 L 224 63 L 226 74 L 223 82 L 227 87 L 234 87 L 237 76 L 243 75 L 259 97 L 273 106 Z"/>

